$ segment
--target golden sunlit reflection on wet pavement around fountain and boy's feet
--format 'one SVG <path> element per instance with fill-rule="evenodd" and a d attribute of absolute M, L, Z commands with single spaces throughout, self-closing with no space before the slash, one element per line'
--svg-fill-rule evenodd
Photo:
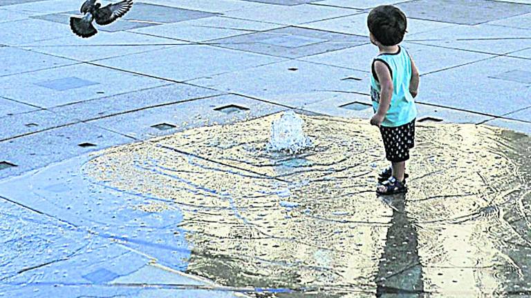
<path fill-rule="evenodd" d="M 410 191 L 376 197 L 386 166 L 366 121 L 304 116 L 314 147 L 268 152 L 279 115 L 102 152 L 93 187 L 180 212 L 187 272 L 257 297 L 531 292 L 531 139 L 419 126 Z M 155 201 L 155 203 L 153 203 Z"/>

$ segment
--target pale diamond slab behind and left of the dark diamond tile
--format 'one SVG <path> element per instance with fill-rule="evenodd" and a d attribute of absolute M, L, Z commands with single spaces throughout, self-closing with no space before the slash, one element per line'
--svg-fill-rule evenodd
<path fill-rule="evenodd" d="M 132 31 L 151 34 L 158 37 L 200 42 L 208 41 L 210 39 L 221 39 L 241 34 L 249 34 L 256 31 L 271 30 L 279 27 L 281 27 L 281 25 L 257 21 L 231 19 L 226 17 L 208 17 L 192 21 L 181 21 L 178 23 L 140 28 Z"/>

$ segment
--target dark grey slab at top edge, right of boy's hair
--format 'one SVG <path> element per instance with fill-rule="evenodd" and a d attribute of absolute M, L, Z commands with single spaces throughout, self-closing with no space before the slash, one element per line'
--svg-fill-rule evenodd
<path fill-rule="evenodd" d="M 416 0 L 396 4 L 414 19 L 477 25 L 531 12 L 531 6 L 488 0 Z"/>

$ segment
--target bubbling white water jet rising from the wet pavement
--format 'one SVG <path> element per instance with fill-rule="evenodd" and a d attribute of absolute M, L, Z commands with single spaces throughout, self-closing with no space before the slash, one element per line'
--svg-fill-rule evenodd
<path fill-rule="evenodd" d="M 283 151 L 297 154 L 312 146 L 312 141 L 302 129 L 304 120 L 292 110 L 273 121 L 271 136 L 266 147 L 270 151 Z"/>

